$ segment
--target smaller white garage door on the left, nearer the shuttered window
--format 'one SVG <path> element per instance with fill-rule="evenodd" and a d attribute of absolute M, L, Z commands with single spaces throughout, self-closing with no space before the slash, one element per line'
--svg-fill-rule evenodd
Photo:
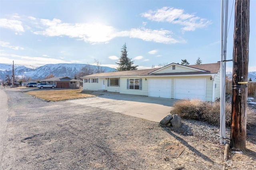
<path fill-rule="evenodd" d="M 149 79 L 149 95 L 157 98 L 171 98 L 171 79 Z"/>

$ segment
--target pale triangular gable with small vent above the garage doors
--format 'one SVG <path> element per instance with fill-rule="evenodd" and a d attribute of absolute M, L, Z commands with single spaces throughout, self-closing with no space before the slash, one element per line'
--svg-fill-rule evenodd
<path fill-rule="evenodd" d="M 201 70 L 198 68 L 192 68 L 190 66 L 183 66 L 180 64 L 169 64 L 167 66 L 164 66 L 158 70 L 155 70 L 151 72 L 150 74 L 163 74 L 163 73 L 178 73 L 178 72 L 205 72 L 205 70 Z"/>

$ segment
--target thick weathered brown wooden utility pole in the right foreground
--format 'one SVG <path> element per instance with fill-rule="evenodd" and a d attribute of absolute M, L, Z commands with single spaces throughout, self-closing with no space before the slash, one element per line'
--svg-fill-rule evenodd
<path fill-rule="evenodd" d="M 230 148 L 246 148 L 246 107 L 249 63 L 250 0 L 236 0 L 233 49 Z"/>

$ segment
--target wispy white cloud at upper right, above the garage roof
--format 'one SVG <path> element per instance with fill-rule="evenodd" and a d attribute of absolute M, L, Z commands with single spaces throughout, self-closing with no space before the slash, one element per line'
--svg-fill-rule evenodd
<path fill-rule="evenodd" d="M 185 14 L 182 9 L 163 7 L 156 11 L 148 11 L 141 14 L 148 20 L 157 22 L 169 22 L 183 25 L 182 31 L 194 31 L 197 28 L 204 28 L 212 22 L 195 16 L 195 14 Z"/>

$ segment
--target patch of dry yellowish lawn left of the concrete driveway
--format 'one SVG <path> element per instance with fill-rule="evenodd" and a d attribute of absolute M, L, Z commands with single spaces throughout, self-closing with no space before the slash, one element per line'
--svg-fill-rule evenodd
<path fill-rule="evenodd" d="M 100 94 L 93 94 L 91 91 L 83 90 L 36 90 L 27 92 L 29 95 L 36 96 L 44 100 L 56 102 L 60 100 L 79 99 L 98 96 Z"/>

